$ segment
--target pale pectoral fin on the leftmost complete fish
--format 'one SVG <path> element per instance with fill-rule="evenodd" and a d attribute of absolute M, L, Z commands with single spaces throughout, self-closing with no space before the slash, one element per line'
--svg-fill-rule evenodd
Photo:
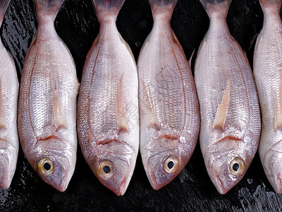
<path fill-rule="evenodd" d="M 58 79 L 56 78 L 56 88 L 55 88 L 51 73 L 50 73 L 50 84 L 51 84 L 53 112 L 55 117 L 56 130 L 59 131 L 59 129 L 67 129 L 66 115 L 61 105 L 61 99 L 58 90 Z"/>

